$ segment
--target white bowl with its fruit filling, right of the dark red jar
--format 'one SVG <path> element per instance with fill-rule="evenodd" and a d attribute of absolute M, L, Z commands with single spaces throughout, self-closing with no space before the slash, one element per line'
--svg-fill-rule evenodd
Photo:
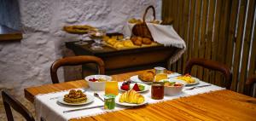
<path fill-rule="evenodd" d="M 169 80 L 169 79 L 164 79 L 161 80 L 164 82 L 165 86 L 165 95 L 179 95 L 184 87 L 184 83 L 179 80 Z"/>

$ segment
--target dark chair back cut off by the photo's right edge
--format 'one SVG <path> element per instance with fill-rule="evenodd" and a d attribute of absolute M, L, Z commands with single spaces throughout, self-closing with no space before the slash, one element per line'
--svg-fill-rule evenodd
<path fill-rule="evenodd" d="M 256 84 L 256 74 L 247 78 L 246 87 L 244 88 L 244 94 L 255 97 L 256 92 L 254 92 L 253 94 L 254 84 Z M 254 91 L 256 91 L 256 89 Z"/>

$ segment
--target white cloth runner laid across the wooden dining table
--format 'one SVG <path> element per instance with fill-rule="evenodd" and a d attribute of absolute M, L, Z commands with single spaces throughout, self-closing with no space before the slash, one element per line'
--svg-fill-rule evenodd
<path fill-rule="evenodd" d="M 207 83 L 200 81 L 200 84 L 197 84 L 197 85 L 205 85 L 205 84 L 207 84 Z M 192 90 L 189 90 L 189 89 L 186 89 L 186 88 L 188 88 L 188 87 L 185 87 L 183 89 L 183 93 L 180 94 L 180 95 L 176 95 L 176 96 L 166 96 L 165 95 L 163 100 L 153 100 L 153 99 L 151 99 L 150 98 L 150 96 L 151 96 L 150 89 L 148 90 L 148 92 L 143 93 L 143 95 L 146 98 L 148 98 L 148 103 L 152 104 L 152 103 L 157 103 L 157 102 L 160 102 L 160 101 L 170 101 L 170 100 L 173 100 L 173 99 L 177 99 L 179 97 L 190 96 L 190 95 L 198 95 L 198 94 L 207 93 L 207 92 L 210 92 L 210 91 L 224 89 L 224 88 L 221 88 L 221 87 L 218 87 L 218 86 L 215 86 L 215 85 L 211 85 L 211 86 L 207 86 L 207 87 L 203 87 L 203 88 L 199 88 L 199 89 L 192 89 Z M 93 95 L 94 92 L 95 91 L 91 91 L 89 89 L 89 90 L 86 91 L 86 95 Z M 68 90 L 61 91 L 61 92 L 50 93 L 50 94 L 44 94 L 44 95 L 36 95 L 36 97 L 35 97 L 35 107 L 36 107 L 37 118 L 43 117 L 47 121 L 66 121 L 70 118 L 83 118 L 83 117 L 95 116 L 95 115 L 102 114 L 102 113 L 114 112 L 114 111 L 125 109 L 125 107 L 117 106 L 113 110 L 104 110 L 103 107 L 101 107 L 101 108 L 99 107 L 99 108 L 81 110 L 81 111 L 76 111 L 76 112 L 63 113 L 63 111 L 67 111 L 67 110 L 70 110 L 70 109 L 77 109 L 77 108 L 83 108 L 83 107 L 93 107 L 93 106 L 99 106 L 99 105 L 104 104 L 98 98 L 95 98 L 95 101 L 90 103 L 90 105 L 79 106 L 79 107 L 71 107 L 71 106 L 62 105 L 60 103 L 57 103 L 57 99 L 49 100 L 52 97 L 63 96 L 63 95 L 66 95 L 67 93 L 68 93 Z M 97 93 L 99 95 L 101 95 L 101 97 L 103 98 L 104 92 L 97 92 Z"/>

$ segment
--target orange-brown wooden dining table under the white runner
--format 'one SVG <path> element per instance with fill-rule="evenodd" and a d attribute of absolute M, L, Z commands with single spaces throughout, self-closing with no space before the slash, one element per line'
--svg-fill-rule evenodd
<path fill-rule="evenodd" d="M 123 81 L 140 72 L 128 72 L 113 75 L 114 79 Z M 79 80 L 62 84 L 48 84 L 25 89 L 26 99 L 33 102 L 38 94 L 60 91 L 63 89 L 81 88 L 87 86 L 85 81 Z M 224 89 L 211 93 L 182 97 L 172 101 L 149 104 L 146 107 L 125 109 L 117 112 L 94 117 L 71 119 L 76 120 L 256 120 L 256 99 L 247 95 Z"/>

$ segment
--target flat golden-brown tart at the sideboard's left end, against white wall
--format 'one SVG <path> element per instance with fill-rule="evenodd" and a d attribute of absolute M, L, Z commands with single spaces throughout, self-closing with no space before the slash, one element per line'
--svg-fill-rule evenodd
<path fill-rule="evenodd" d="M 64 26 L 63 30 L 69 33 L 87 33 L 90 31 L 96 31 L 97 29 L 96 27 L 93 27 L 93 26 L 84 25 L 84 26 Z"/>

